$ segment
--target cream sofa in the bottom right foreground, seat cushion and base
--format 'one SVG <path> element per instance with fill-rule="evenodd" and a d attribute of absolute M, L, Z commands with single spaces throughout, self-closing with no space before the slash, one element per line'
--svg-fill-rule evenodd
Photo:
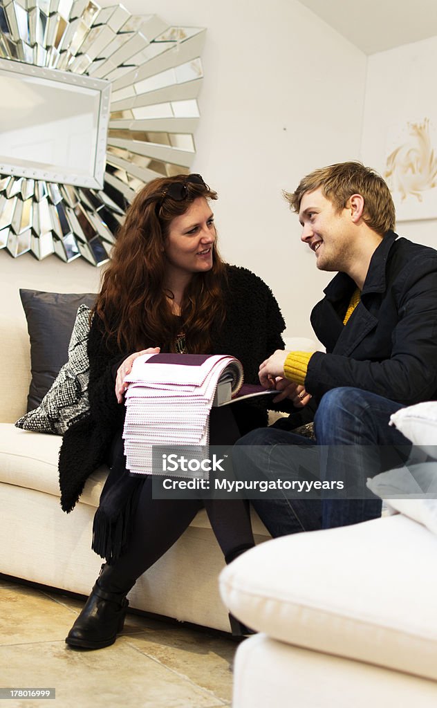
<path fill-rule="evenodd" d="M 220 576 L 260 634 L 239 646 L 233 708 L 437 705 L 437 535 L 402 514 L 274 539 Z"/>

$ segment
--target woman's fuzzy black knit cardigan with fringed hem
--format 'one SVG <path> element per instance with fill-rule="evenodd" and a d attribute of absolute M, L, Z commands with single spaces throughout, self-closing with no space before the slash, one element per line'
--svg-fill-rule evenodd
<path fill-rule="evenodd" d="M 227 265 L 223 287 L 226 318 L 220 330 L 212 332 L 211 353 L 237 357 L 244 367 L 245 382 L 257 383 L 260 363 L 276 349 L 284 348 L 283 316 L 270 288 L 246 268 Z M 159 342 L 143 343 L 144 349 L 152 346 L 159 346 Z M 125 416 L 125 406 L 115 398 L 113 367 L 132 352 L 108 344 L 101 319 L 94 316 L 88 353 L 90 411 L 67 430 L 59 452 L 61 506 L 67 512 L 76 505 L 86 479 L 103 463 Z M 234 404 L 233 410 L 242 435 L 266 425 L 266 409 L 259 401 L 242 401 Z"/>

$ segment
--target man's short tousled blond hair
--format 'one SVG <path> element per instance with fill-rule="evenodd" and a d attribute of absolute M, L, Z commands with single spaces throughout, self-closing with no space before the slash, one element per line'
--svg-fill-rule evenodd
<path fill-rule="evenodd" d="M 380 236 L 395 228 L 395 205 L 387 184 L 361 162 L 338 162 L 314 170 L 301 179 L 295 192 L 284 192 L 284 196 L 290 208 L 299 213 L 303 195 L 319 188 L 339 212 L 353 194 L 360 194 L 364 199 L 363 219 Z"/>

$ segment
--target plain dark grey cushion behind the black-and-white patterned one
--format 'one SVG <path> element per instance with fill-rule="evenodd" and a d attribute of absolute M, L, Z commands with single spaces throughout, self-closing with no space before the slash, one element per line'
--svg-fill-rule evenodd
<path fill-rule="evenodd" d="M 31 411 L 40 405 L 60 368 L 67 361 L 68 343 L 77 308 L 82 303 L 92 307 L 96 295 L 22 289 L 20 297 L 30 338 L 32 380 L 28 411 Z"/>

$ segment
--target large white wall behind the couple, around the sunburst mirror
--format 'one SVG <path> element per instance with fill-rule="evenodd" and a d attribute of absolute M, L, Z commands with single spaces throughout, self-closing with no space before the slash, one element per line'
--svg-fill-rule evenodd
<path fill-rule="evenodd" d="M 290 336 L 311 336 L 310 311 L 331 275 L 317 271 L 300 243 L 282 190 L 293 191 L 318 166 L 358 157 L 365 55 L 296 0 L 123 4 L 134 14 L 208 28 L 193 171 L 219 193 L 223 256 L 271 285 Z M 59 281 L 62 290 L 77 290 L 83 282 L 86 291 L 96 282 L 91 265 L 55 256 L 42 264 L 0 251 L 0 279 L 5 271 L 27 287 Z"/>

